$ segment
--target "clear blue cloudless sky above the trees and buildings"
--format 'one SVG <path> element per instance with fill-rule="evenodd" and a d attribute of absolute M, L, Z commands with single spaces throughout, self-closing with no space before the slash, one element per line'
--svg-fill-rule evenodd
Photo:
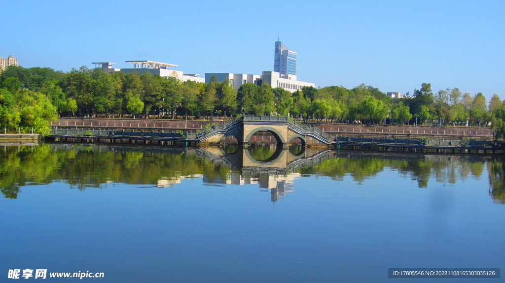
<path fill-rule="evenodd" d="M 298 80 L 383 92 L 431 83 L 505 98 L 504 1 L 2 2 L 0 56 L 68 72 L 153 60 L 184 73 L 273 70 L 274 42 L 298 53 Z"/>

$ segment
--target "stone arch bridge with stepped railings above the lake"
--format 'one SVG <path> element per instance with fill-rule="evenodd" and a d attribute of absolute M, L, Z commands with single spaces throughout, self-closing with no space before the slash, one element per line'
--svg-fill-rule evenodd
<path fill-rule="evenodd" d="M 249 116 L 242 120 L 231 120 L 223 125 L 214 125 L 210 129 L 197 134 L 196 140 L 200 144 L 220 144 L 226 136 L 232 135 L 239 145 L 247 147 L 250 137 L 257 131 L 271 132 L 277 145 L 286 148 L 290 141 L 298 137 L 303 146 L 326 147 L 332 144 L 330 135 L 316 127 L 308 127 L 300 123 L 289 121 L 288 117 L 278 116 Z"/>

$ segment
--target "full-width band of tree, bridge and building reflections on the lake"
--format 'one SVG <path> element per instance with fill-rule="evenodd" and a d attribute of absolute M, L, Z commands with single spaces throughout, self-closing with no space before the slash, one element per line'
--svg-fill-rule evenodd
<path fill-rule="evenodd" d="M 437 155 L 390 152 L 337 152 L 270 145 L 183 148 L 52 143 L 0 147 L 0 195 L 15 199 L 23 186 L 65 182 L 70 188 L 112 188 L 117 184 L 181 186 L 184 179 L 205 185 L 255 184 L 272 201 L 294 189 L 298 176 L 321 176 L 358 184 L 383 171 L 410 178 L 419 188 L 430 183 L 457 184 L 468 176 L 488 175 L 489 195 L 505 203 L 505 158 L 501 155 Z M 335 183 L 338 185 L 339 183 Z M 147 186 L 146 186 L 147 185 Z M 316 188 L 311 188 L 316 189 Z"/>

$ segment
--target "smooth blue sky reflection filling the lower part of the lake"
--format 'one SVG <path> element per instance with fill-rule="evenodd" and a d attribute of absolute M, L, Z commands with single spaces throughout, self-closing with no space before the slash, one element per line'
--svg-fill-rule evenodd
<path fill-rule="evenodd" d="M 107 282 L 386 282 L 389 267 L 505 260 L 496 242 L 505 206 L 492 203 L 487 180 L 419 188 L 386 169 L 361 184 L 295 182 L 274 206 L 258 184 L 201 178 L 168 189 L 25 186 L 18 199 L 0 199 L 0 240 L 9 243 L 0 265 L 100 271 Z"/>

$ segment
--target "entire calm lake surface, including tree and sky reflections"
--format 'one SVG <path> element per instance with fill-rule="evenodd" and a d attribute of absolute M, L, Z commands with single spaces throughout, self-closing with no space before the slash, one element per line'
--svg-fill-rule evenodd
<path fill-rule="evenodd" d="M 500 156 L 299 147 L 0 148 L 0 281 L 26 268 L 105 273 L 83 282 L 426 282 L 443 279 L 388 279 L 387 268 L 503 271 L 504 167 Z"/>

